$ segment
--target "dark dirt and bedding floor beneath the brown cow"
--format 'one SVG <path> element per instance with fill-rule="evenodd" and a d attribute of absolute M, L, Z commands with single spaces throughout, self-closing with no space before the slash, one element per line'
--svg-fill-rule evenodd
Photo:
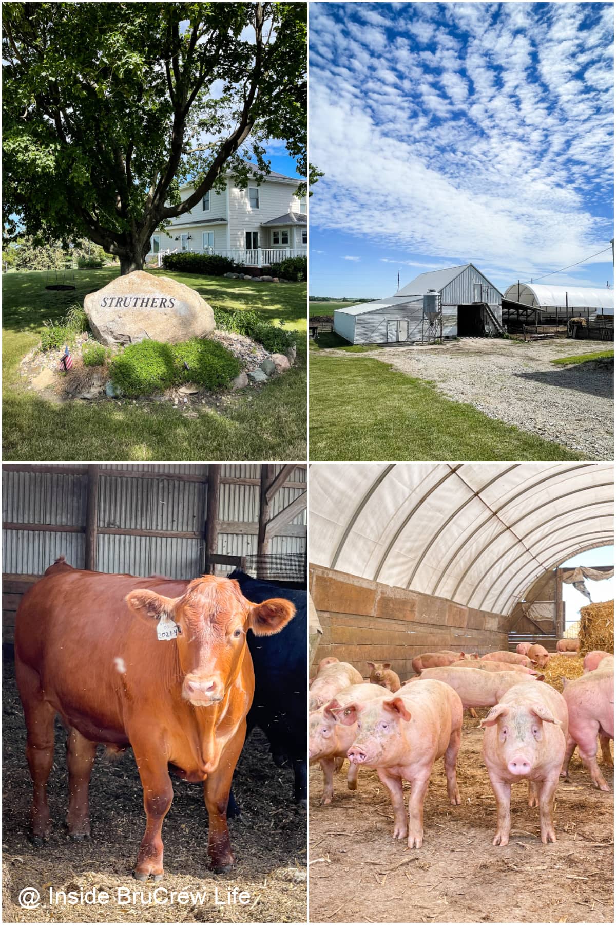
<path fill-rule="evenodd" d="M 236 855 L 233 873 L 214 875 L 207 868 L 208 817 L 201 787 L 172 778 L 175 798 L 163 826 L 165 875 L 160 883 L 140 883 L 133 879 L 132 868 L 145 815 L 130 750 L 118 761 L 97 759 L 90 790 L 92 839 L 71 842 L 64 826 L 66 733 L 58 722 L 49 786 L 53 835 L 45 847 L 34 847 L 27 837 L 31 783 L 12 661 L 4 662 L 3 721 L 4 921 L 306 921 L 306 811 L 293 803 L 292 771 L 275 767 L 259 730 L 250 736 L 234 779 L 242 818 L 229 822 Z M 39 908 L 18 906 L 18 895 L 27 887 L 42 895 Z M 50 887 L 66 893 L 97 887 L 112 898 L 106 905 L 50 907 Z M 156 887 L 164 888 L 158 903 L 150 895 Z M 227 890 L 233 898 L 234 887 L 248 892 L 248 902 L 216 905 L 214 890 L 219 900 L 226 900 Z M 121 888 L 122 904 L 117 901 Z M 137 891 L 137 901 L 125 905 L 126 891 Z M 199 893 L 201 898 L 188 896 L 186 904 L 172 905 L 171 891 Z"/>

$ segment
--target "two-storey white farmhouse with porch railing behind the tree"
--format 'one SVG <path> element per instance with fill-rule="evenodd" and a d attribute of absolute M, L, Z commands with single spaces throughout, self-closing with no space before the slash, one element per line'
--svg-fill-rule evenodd
<path fill-rule="evenodd" d="M 151 238 L 150 259 L 164 253 L 216 253 L 245 266 L 268 266 L 286 257 L 306 256 L 308 221 L 306 199 L 296 196 L 299 180 L 272 173 L 246 190 L 236 187 L 230 173 L 222 192 L 206 192 L 200 203 L 172 219 L 164 234 Z M 187 200 L 195 187 L 180 188 Z"/>

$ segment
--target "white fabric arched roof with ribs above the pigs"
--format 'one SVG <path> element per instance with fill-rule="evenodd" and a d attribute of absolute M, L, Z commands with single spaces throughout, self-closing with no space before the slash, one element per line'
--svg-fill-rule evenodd
<path fill-rule="evenodd" d="M 610 462 L 310 468 L 310 561 L 509 614 L 546 570 L 613 542 Z"/>

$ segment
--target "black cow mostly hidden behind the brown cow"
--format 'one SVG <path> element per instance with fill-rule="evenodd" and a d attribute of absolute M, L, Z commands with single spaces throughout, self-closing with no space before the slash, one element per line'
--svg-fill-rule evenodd
<path fill-rule="evenodd" d="M 255 697 L 248 713 L 248 733 L 254 726 L 267 735 L 274 763 L 291 764 L 295 772 L 295 801 L 307 806 L 307 597 L 306 591 L 271 585 L 236 569 L 229 578 L 239 582 L 242 594 L 259 604 L 268 598 L 286 598 L 296 605 L 296 616 L 281 633 L 248 634 L 255 668 Z M 233 793 L 227 815 L 239 812 Z"/>

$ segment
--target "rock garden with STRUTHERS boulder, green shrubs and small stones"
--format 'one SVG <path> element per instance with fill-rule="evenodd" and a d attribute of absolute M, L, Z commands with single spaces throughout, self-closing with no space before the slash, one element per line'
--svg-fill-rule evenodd
<path fill-rule="evenodd" d="M 295 361 L 296 332 L 136 271 L 48 324 L 19 372 L 51 401 L 169 401 L 186 412 L 260 389 Z"/>

